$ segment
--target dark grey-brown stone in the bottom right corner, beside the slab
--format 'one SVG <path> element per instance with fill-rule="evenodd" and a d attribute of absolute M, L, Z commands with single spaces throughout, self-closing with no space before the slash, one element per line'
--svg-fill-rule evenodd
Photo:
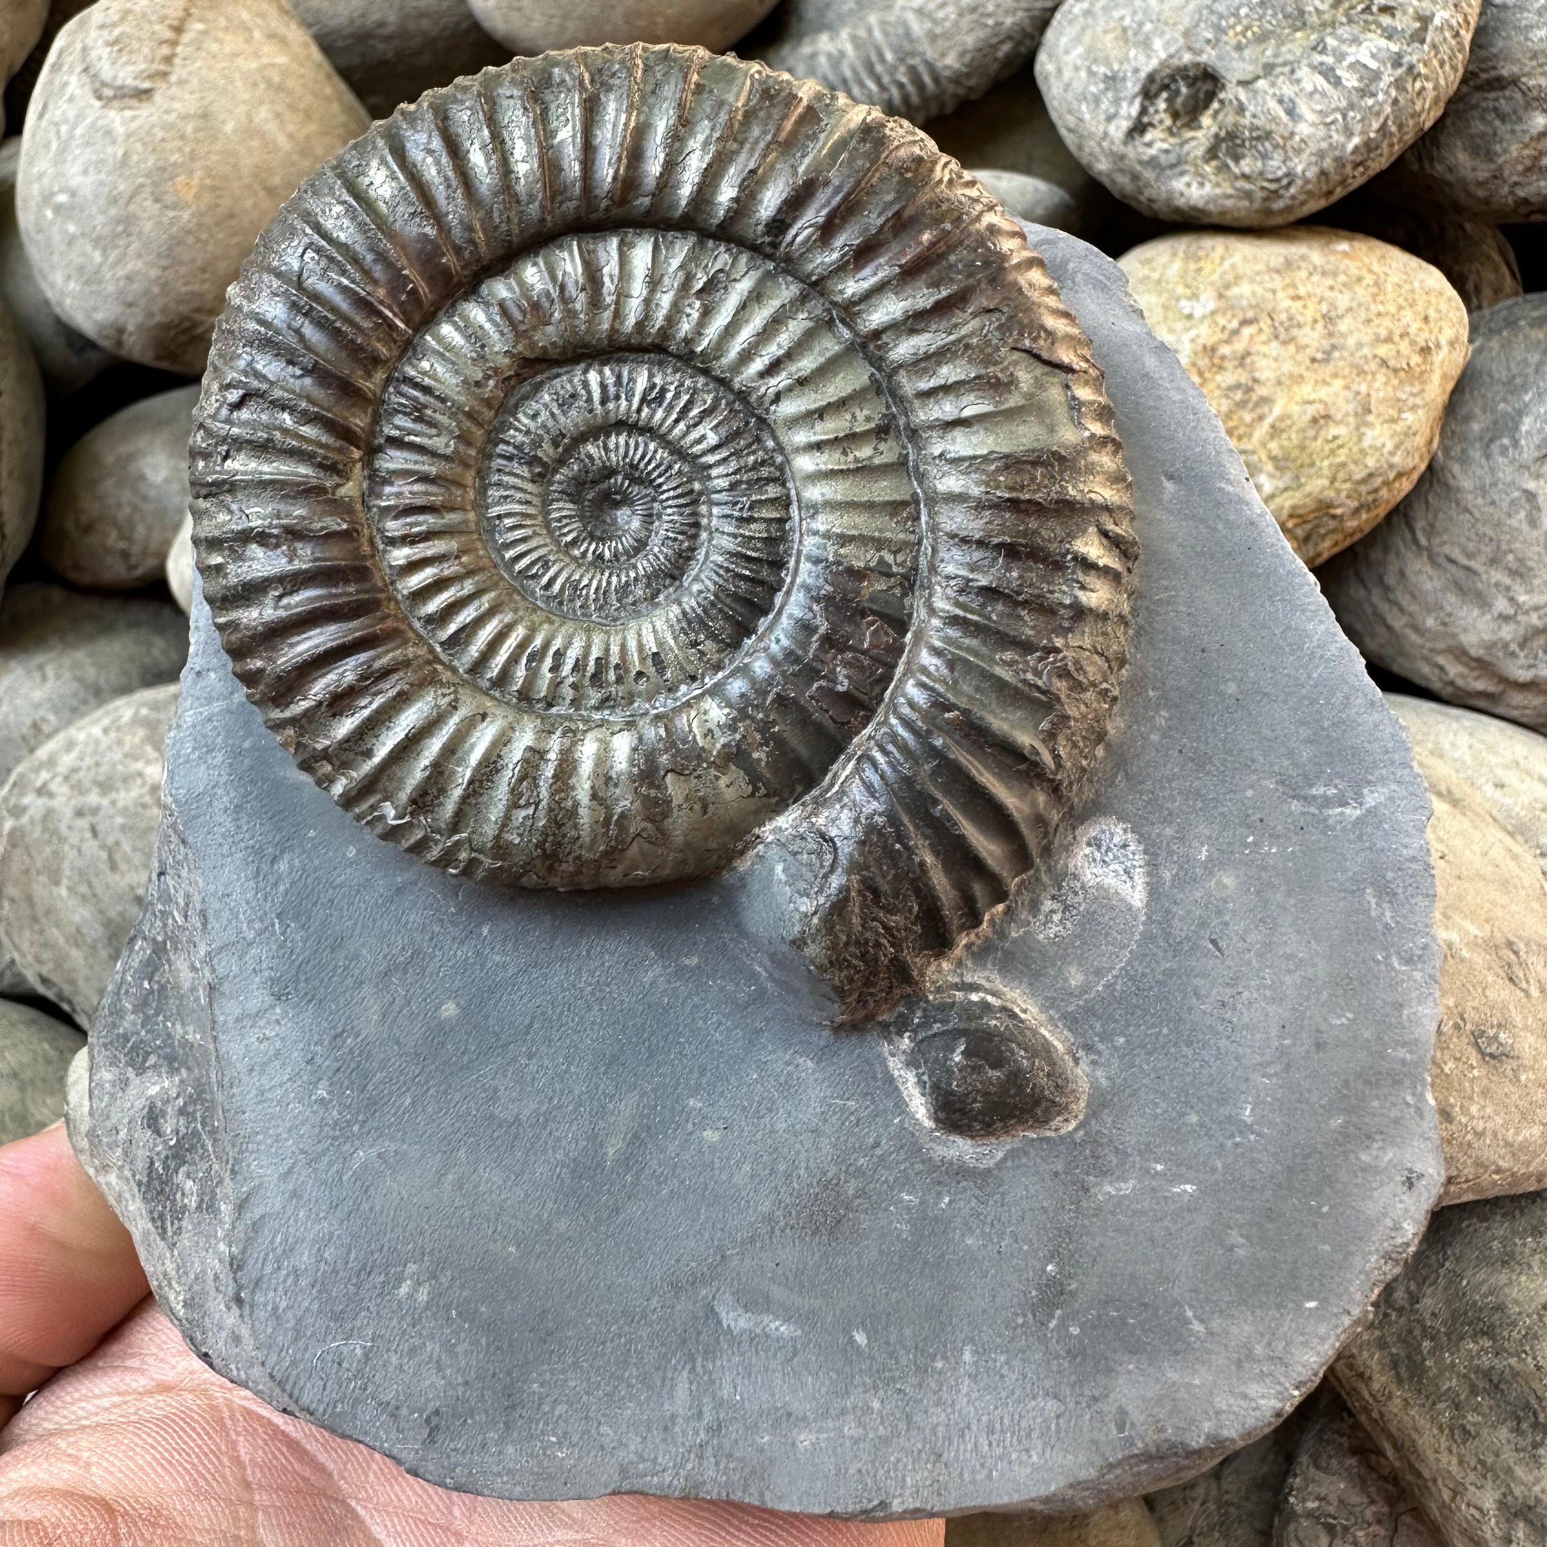
<path fill-rule="evenodd" d="M 1547 1193 L 1434 1216 L 1332 1377 L 1446 1547 L 1547 1541 Z"/>

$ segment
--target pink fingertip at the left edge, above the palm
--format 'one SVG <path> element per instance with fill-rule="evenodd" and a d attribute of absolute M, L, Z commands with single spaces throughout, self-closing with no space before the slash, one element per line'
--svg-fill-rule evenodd
<path fill-rule="evenodd" d="M 147 1293 L 135 1242 L 63 1123 L 0 1148 L 0 1422 Z"/>

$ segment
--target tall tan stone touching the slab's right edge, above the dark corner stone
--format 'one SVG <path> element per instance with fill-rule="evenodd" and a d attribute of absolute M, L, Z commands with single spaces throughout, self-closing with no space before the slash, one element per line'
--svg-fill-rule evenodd
<path fill-rule="evenodd" d="M 1414 739 L 1434 815 L 1442 1204 L 1547 1187 L 1547 879 L 1485 798 Z"/>

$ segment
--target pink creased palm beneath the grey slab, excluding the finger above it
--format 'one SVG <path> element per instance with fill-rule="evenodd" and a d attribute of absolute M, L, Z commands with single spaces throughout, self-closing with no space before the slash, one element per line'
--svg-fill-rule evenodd
<path fill-rule="evenodd" d="M 0 1519 L 17 1542 L 71 1547 L 941 1547 L 944 1532 L 695 1501 L 447 1493 L 272 1412 L 149 1304 L 0 1436 Z"/>

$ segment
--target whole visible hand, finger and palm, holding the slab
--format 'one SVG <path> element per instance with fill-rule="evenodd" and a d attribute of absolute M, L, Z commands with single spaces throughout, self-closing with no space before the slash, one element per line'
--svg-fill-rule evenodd
<path fill-rule="evenodd" d="M 449 1493 L 223 1380 L 147 1296 L 63 1128 L 0 1148 L 0 1547 L 941 1547 L 939 1521 Z"/>

